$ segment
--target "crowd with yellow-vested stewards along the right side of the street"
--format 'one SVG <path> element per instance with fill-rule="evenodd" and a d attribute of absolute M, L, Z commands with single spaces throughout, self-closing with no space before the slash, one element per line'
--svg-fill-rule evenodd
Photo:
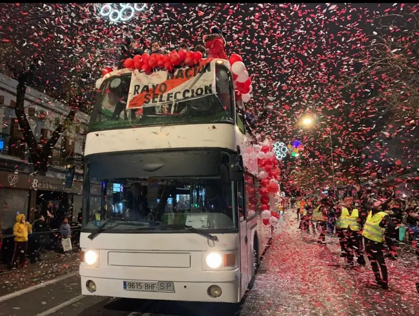
<path fill-rule="evenodd" d="M 413 248 L 419 260 L 419 204 L 416 199 L 346 197 L 336 200 L 327 195 L 291 198 L 290 206 L 301 219 L 299 229 L 306 233 L 320 232 L 317 243 L 326 244 L 326 234 L 339 238 L 341 257 L 350 268 L 371 263 L 375 284 L 388 288 L 385 257 L 398 259 L 402 243 Z"/>

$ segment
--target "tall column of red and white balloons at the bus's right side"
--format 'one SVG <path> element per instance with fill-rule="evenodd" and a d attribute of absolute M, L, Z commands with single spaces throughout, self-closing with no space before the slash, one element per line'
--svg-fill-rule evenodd
<path fill-rule="evenodd" d="M 274 144 L 268 140 L 254 144 L 257 153 L 259 167 L 260 199 L 262 219 L 265 225 L 276 226 L 278 224 L 279 176 L 278 160 L 274 154 Z"/>

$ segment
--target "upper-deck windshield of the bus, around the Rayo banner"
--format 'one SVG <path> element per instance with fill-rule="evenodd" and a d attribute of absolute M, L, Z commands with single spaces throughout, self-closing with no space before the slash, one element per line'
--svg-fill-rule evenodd
<path fill-rule="evenodd" d="M 215 67 L 216 94 L 153 104 L 143 110 L 128 109 L 132 72 L 106 78 L 91 115 L 89 131 L 150 125 L 234 123 L 232 79 L 222 66 Z"/>

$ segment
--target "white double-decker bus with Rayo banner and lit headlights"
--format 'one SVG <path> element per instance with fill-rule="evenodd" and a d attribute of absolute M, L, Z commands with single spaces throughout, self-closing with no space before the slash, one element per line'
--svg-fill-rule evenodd
<path fill-rule="evenodd" d="M 237 303 L 253 285 L 271 227 L 232 80 L 216 59 L 104 78 L 85 147 L 82 294 Z"/>

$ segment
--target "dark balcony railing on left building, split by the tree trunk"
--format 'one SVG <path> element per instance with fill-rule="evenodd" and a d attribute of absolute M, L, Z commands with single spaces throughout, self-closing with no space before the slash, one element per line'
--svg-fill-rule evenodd
<path fill-rule="evenodd" d="M 19 157 L 30 162 L 31 156 L 26 143 L 13 139 L 10 135 L 0 134 L 0 154 Z M 48 162 L 51 166 L 65 167 L 67 158 L 83 158 L 82 154 L 66 153 L 61 148 L 52 148 Z M 76 169 L 83 169 L 83 163 L 78 159 L 71 160 Z"/>

